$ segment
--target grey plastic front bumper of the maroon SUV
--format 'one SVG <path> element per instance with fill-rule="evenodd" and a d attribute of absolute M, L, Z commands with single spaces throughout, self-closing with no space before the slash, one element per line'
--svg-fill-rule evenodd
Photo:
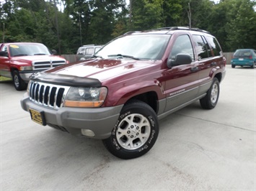
<path fill-rule="evenodd" d="M 58 110 L 40 106 L 32 101 L 25 93 L 20 101 L 25 111 L 30 108 L 36 111 L 44 111 L 45 121 L 48 126 L 74 135 L 81 135 L 81 129 L 94 132 L 94 139 L 107 139 L 113 127 L 118 121 L 123 105 L 107 108 L 68 108 L 63 107 Z"/>

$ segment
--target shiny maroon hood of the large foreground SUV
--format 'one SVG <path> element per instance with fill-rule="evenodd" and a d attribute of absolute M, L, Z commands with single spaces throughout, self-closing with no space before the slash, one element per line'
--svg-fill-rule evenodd
<path fill-rule="evenodd" d="M 74 75 L 84 78 L 95 78 L 105 81 L 128 73 L 138 73 L 148 67 L 153 67 L 156 60 L 131 60 L 131 59 L 95 59 L 86 62 L 76 62 L 63 65 L 46 71 L 60 75 Z M 149 71 L 148 69 L 146 69 Z"/>

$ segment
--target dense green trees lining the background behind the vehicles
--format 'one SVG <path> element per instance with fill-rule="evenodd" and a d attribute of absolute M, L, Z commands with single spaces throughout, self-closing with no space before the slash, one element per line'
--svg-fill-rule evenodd
<path fill-rule="evenodd" d="M 103 45 L 129 30 L 191 24 L 215 35 L 224 52 L 256 49 L 255 5 L 255 0 L 4 0 L 0 37 L 74 54 L 81 45 Z"/>

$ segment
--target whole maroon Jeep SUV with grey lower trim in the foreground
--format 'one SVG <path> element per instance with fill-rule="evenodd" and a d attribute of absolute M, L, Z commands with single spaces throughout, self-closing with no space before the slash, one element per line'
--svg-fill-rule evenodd
<path fill-rule="evenodd" d="M 133 159 L 156 142 L 159 119 L 198 100 L 214 108 L 225 68 L 209 32 L 128 32 L 92 59 L 32 75 L 21 105 L 38 124 L 102 139 L 116 157 Z"/>

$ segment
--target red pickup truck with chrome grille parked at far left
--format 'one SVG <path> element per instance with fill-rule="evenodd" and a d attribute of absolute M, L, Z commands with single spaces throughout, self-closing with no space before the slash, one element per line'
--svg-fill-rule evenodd
<path fill-rule="evenodd" d="M 53 50 L 53 52 L 56 52 Z M 32 42 L 0 44 L 0 76 L 12 78 L 16 90 L 25 90 L 30 75 L 67 61 L 48 50 L 45 45 Z"/>

